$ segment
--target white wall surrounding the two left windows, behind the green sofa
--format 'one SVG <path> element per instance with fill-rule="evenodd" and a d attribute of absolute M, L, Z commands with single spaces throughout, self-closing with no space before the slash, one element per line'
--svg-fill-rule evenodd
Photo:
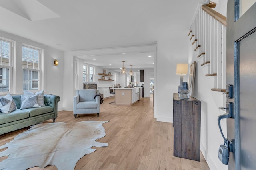
<path fill-rule="evenodd" d="M 42 66 L 44 68 L 44 72 L 42 72 L 42 76 L 44 76 L 44 83 L 42 84 L 42 89 L 44 90 L 44 94 L 55 94 L 60 96 L 61 100 L 60 102 L 58 102 L 58 111 L 60 111 L 63 107 L 63 51 L 50 48 L 41 43 L 25 39 L 17 35 L 6 33 L 4 31 L 0 31 L 0 37 L 16 41 L 16 59 L 14 63 L 15 69 L 13 80 L 14 88 L 12 94 L 23 94 L 22 45 L 26 44 L 41 48 L 44 50 L 44 62 L 42 63 Z M 57 59 L 59 61 L 58 66 L 54 65 L 54 59 Z"/>

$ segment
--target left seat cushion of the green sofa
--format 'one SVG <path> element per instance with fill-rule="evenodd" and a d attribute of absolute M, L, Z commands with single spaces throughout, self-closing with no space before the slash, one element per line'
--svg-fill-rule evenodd
<path fill-rule="evenodd" d="M 0 124 L 26 119 L 29 117 L 29 112 L 24 110 L 14 110 L 11 113 L 0 113 Z"/>

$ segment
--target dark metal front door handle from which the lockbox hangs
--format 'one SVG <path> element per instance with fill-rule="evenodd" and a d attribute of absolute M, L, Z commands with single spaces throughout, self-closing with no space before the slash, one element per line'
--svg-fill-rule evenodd
<path fill-rule="evenodd" d="M 220 126 L 221 119 L 232 118 L 232 116 L 233 116 L 233 103 L 232 102 L 226 102 L 226 107 L 219 107 L 219 109 L 222 109 L 222 110 L 226 111 L 225 114 L 218 116 L 218 125 L 219 125 L 219 128 L 220 128 L 220 133 L 221 133 L 221 135 L 224 139 L 224 143 L 226 143 L 229 151 L 233 152 L 233 144 L 232 144 L 231 141 L 229 141 L 227 138 L 225 138 L 225 136 L 222 132 L 221 126 Z"/>

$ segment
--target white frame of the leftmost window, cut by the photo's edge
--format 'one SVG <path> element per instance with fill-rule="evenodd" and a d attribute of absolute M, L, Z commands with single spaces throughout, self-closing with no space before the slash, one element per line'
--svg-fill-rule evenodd
<path fill-rule="evenodd" d="M 9 49 L 9 65 L 2 65 L 2 53 L 0 55 L 0 67 L 2 68 L 6 68 L 9 70 L 9 89 L 7 92 L 2 92 L 2 85 L 6 85 L 6 69 L 3 69 L 4 71 L 2 72 L 2 83 L 0 83 L 1 87 L 0 87 L 0 94 L 8 94 L 8 93 L 12 93 L 14 87 L 12 86 L 13 84 L 13 80 L 15 78 L 15 75 L 13 73 L 13 65 L 15 61 L 15 49 L 16 49 L 16 41 L 12 40 L 12 39 L 7 39 L 4 37 L 0 37 L 0 41 L 4 41 L 7 43 L 10 43 L 10 49 Z"/>

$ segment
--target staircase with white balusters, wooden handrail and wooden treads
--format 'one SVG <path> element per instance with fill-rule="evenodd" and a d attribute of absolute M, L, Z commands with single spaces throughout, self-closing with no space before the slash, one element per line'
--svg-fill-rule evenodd
<path fill-rule="evenodd" d="M 226 17 L 216 12 L 216 3 L 198 8 L 188 36 L 212 91 L 225 92 Z"/>

